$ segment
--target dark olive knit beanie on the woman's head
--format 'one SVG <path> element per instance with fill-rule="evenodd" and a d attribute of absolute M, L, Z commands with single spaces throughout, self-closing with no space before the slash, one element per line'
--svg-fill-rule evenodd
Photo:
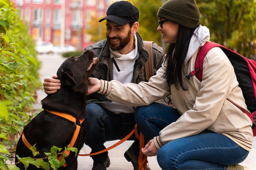
<path fill-rule="evenodd" d="M 168 0 L 159 8 L 157 17 L 194 29 L 199 24 L 200 12 L 195 0 Z"/>

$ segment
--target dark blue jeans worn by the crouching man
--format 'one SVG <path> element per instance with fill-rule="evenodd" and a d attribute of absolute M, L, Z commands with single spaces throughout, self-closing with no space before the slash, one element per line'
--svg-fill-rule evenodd
<path fill-rule="evenodd" d="M 96 103 L 89 103 L 86 106 L 87 115 L 85 117 L 87 135 L 85 144 L 92 148 L 91 153 L 105 149 L 103 145 L 106 141 L 123 139 L 135 126 L 134 113 L 115 114 L 103 109 Z M 132 149 L 139 155 L 139 140 L 133 134 L 128 140 L 135 140 Z M 91 156 L 96 162 L 104 162 L 108 152 Z"/>

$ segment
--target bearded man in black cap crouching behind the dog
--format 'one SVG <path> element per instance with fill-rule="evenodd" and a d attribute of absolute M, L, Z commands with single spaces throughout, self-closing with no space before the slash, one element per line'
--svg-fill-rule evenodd
<path fill-rule="evenodd" d="M 99 41 L 91 48 L 95 57 L 99 58 L 99 66 L 92 73 L 93 77 L 121 83 L 139 83 L 146 81 L 144 64 L 149 54 L 144 49 L 139 33 L 139 11 L 128 1 L 113 3 L 107 16 L 99 20 L 106 21 L 106 39 Z M 162 48 L 153 44 L 154 74 L 163 61 Z M 56 92 L 60 85 L 56 77 L 45 78 L 44 89 L 47 94 Z M 56 87 L 54 87 L 56 86 Z M 105 149 L 106 141 L 122 139 L 135 126 L 135 108 L 107 100 L 104 95 L 94 93 L 87 98 L 85 144 L 92 148 L 92 153 Z M 135 142 L 128 148 L 124 156 L 132 162 L 134 170 L 138 170 L 139 140 L 133 135 L 129 140 Z M 108 152 L 91 156 L 94 163 L 92 170 L 106 170 L 110 166 Z M 147 170 L 150 170 L 147 167 Z"/>

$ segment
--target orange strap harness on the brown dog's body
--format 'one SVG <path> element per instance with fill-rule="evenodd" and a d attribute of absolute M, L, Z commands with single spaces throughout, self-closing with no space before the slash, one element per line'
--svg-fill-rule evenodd
<path fill-rule="evenodd" d="M 71 142 L 70 142 L 70 145 L 69 145 L 69 148 L 72 148 L 72 147 L 74 146 L 75 142 L 76 142 L 76 139 L 77 139 L 77 137 L 78 137 L 78 134 L 79 134 L 79 131 L 80 131 L 80 128 L 81 128 L 80 125 L 76 124 L 76 118 L 74 118 L 73 116 L 71 116 L 71 115 L 69 115 L 69 114 L 67 114 L 67 113 L 59 113 L 59 112 L 56 112 L 56 111 L 49 111 L 49 110 L 45 110 L 45 111 L 47 111 L 47 112 L 49 112 L 49 113 L 52 113 L 52 114 L 54 114 L 54 115 L 60 116 L 60 117 L 62 117 L 62 118 L 65 118 L 65 119 L 69 120 L 70 122 L 73 122 L 73 123 L 76 125 L 76 130 L 74 131 L 74 135 L 73 135 L 73 137 L 72 137 L 72 139 L 71 139 Z M 84 119 L 79 120 L 80 124 L 82 124 L 83 121 L 84 121 Z M 27 139 L 25 138 L 25 135 L 24 135 L 23 132 L 21 133 L 21 135 L 22 135 L 22 141 L 23 141 L 23 143 L 25 144 L 25 146 L 27 146 L 27 148 L 29 148 L 29 149 L 30 149 L 31 147 L 33 147 L 31 144 L 29 144 L 29 142 L 28 142 Z M 36 150 L 36 151 L 37 151 L 37 150 Z M 38 152 L 38 151 L 37 151 L 37 152 Z M 67 154 L 67 156 L 65 156 L 65 157 L 68 157 L 68 156 L 70 155 L 70 150 L 64 151 L 64 153 Z M 39 155 L 39 153 L 38 153 L 38 155 Z M 63 159 L 63 155 L 61 155 L 60 157 L 58 157 L 58 160 L 59 160 L 59 161 L 61 161 L 62 159 Z M 64 167 L 67 166 L 67 163 L 65 163 L 63 166 L 64 166 Z"/>

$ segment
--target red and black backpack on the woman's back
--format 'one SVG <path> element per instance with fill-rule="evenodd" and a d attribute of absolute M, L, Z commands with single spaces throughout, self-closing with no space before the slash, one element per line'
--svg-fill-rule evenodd
<path fill-rule="evenodd" d="M 207 52 L 211 50 L 213 47 L 220 47 L 222 51 L 227 55 L 229 58 L 229 61 L 234 67 L 236 78 L 239 83 L 239 87 L 243 91 L 243 95 L 245 98 L 245 103 L 247 105 L 248 110 L 251 113 L 247 113 L 244 109 L 236 105 L 239 109 L 241 109 L 244 113 L 249 116 L 249 118 L 253 122 L 253 133 L 254 136 L 256 136 L 256 61 L 252 59 L 248 59 L 237 52 L 234 52 L 230 50 L 229 48 L 226 48 L 220 44 L 214 43 L 214 42 L 207 42 L 202 46 L 198 52 L 198 55 L 195 59 L 195 70 L 190 72 L 188 75 L 188 78 L 190 76 L 196 76 L 199 81 L 202 81 L 202 72 L 203 72 L 203 62 L 204 57 L 206 56 Z"/>

